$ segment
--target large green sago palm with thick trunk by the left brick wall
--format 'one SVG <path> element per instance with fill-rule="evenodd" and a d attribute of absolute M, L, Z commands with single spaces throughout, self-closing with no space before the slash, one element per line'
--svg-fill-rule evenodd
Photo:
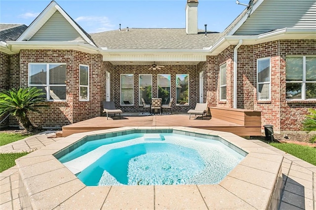
<path fill-rule="evenodd" d="M 37 127 L 31 123 L 28 112 L 40 113 L 40 107 L 47 107 L 43 104 L 46 99 L 42 95 L 45 94 L 36 87 L 5 90 L 0 93 L 0 116 L 10 113 L 28 132 L 32 132 Z"/>

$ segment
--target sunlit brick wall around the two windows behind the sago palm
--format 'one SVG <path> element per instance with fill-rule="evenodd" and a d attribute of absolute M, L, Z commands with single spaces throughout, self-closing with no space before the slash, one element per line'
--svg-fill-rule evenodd
<path fill-rule="evenodd" d="M 42 126 L 64 126 L 100 116 L 105 100 L 105 70 L 111 65 L 102 61 L 102 55 L 74 50 L 21 50 L 21 86 L 28 86 L 29 63 L 66 63 L 66 101 L 46 102 L 48 109 L 42 113 L 30 113 L 31 121 Z M 89 66 L 88 102 L 79 102 L 79 64 Z M 42 117 L 42 116 L 45 117 Z"/>

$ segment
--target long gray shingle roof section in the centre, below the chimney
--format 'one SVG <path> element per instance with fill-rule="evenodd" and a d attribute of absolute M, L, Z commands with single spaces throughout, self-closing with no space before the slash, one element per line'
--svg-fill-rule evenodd
<path fill-rule="evenodd" d="M 222 37 L 221 33 L 199 30 L 197 35 L 187 35 L 186 29 L 129 28 L 90 34 L 98 47 L 108 49 L 203 49 Z"/>

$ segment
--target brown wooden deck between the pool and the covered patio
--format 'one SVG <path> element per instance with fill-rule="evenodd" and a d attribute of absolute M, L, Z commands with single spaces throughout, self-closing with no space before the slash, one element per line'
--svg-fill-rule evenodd
<path fill-rule="evenodd" d="M 247 126 L 241 122 L 230 122 L 228 120 L 219 119 L 216 117 L 193 117 L 189 119 L 188 114 L 172 114 L 172 115 L 150 115 L 150 116 L 128 116 L 123 114 L 121 119 L 119 117 L 95 117 L 84 120 L 71 125 L 63 126 L 62 136 L 105 130 L 118 127 L 152 127 L 152 126 L 184 126 L 192 128 L 200 128 L 215 131 L 231 132 L 238 136 L 261 136 L 261 118 L 256 119 L 256 126 Z M 231 120 L 233 121 L 233 120 Z M 242 120 L 241 120 L 242 121 Z"/>

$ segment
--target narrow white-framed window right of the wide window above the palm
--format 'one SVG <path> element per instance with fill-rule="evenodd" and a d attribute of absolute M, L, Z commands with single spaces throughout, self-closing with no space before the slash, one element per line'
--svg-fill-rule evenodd
<path fill-rule="evenodd" d="M 89 67 L 79 65 L 79 101 L 89 101 Z"/>

